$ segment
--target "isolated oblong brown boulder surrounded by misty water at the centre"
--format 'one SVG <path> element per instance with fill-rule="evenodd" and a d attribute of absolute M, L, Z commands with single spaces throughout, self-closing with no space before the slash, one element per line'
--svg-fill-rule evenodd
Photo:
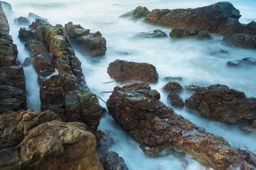
<path fill-rule="evenodd" d="M 148 63 L 128 62 L 116 59 L 108 66 L 108 74 L 117 82 L 149 82 L 158 81 L 157 70 L 154 65 Z"/>

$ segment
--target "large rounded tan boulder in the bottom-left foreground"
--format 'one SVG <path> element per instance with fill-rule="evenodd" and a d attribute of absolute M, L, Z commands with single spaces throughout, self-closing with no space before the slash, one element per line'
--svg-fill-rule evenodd
<path fill-rule="evenodd" d="M 33 128 L 18 148 L 19 169 L 103 170 L 97 159 L 96 138 L 83 123 L 45 122 Z"/>

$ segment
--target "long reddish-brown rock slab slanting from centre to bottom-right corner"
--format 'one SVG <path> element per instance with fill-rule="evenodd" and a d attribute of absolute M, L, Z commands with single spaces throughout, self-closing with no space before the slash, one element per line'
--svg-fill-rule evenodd
<path fill-rule="evenodd" d="M 255 168 L 256 164 L 245 160 L 244 154 L 227 140 L 195 126 L 164 105 L 160 94 L 145 83 L 115 87 L 107 103 L 113 118 L 134 136 L 147 156 L 173 147 L 215 170 L 235 170 L 243 165 Z"/>

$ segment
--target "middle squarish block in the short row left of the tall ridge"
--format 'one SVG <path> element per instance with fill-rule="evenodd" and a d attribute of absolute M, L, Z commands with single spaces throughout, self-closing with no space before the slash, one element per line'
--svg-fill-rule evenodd
<path fill-rule="evenodd" d="M 47 54 L 47 46 L 38 40 L 31 40 L 25 43 L 25 48 L 29 51 L 30 57 Z"/>

